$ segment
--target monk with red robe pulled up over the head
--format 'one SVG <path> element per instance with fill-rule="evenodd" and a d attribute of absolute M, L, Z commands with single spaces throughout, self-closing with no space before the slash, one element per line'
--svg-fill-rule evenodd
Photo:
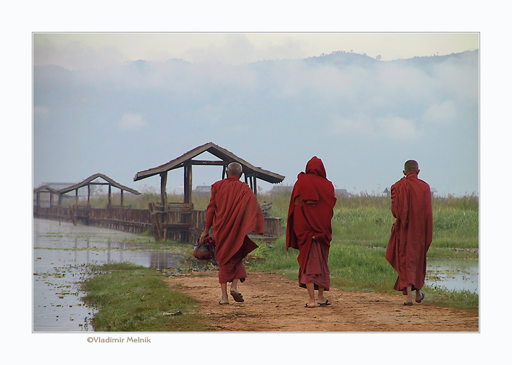
<path fill-rule="evenodd" d="M 306 173 L 297 176 L 286 224 L 286 250 L 298 250 L 298 284 L 308 289 L 307 308 L 331 304 L 324 291 L 330 289 L 327 260 L 334 204 L 334 186 L 327 180 L 322 160 L 315 156 L 307 163 Z M 315 290 L 318 290 L 316 300 Z"/>

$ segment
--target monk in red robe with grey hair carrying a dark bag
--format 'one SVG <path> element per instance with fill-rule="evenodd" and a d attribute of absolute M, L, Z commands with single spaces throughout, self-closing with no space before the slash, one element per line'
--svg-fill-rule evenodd
<path fill-rule="evenodd" d="M 233 162 L 228 165 L 228 178 L 211 185 L 211 198 L 206 210 L 206 227 L 200 242 L 208 236 L 213 227 L 215 258 L 219 262 L 219 283 L 221 301 L 228 304 L 228 282 L 231 282 L 230 294 L 233 299 L 243 302 L 243 296 L 237 289 L 238 281 L 245 282 L 247 272 L 243 258 L 257 248 L 248 233 L 263 234 L 263 212 L 257 198 L 245 183 L 240 181 L 242 166 Z"/>

